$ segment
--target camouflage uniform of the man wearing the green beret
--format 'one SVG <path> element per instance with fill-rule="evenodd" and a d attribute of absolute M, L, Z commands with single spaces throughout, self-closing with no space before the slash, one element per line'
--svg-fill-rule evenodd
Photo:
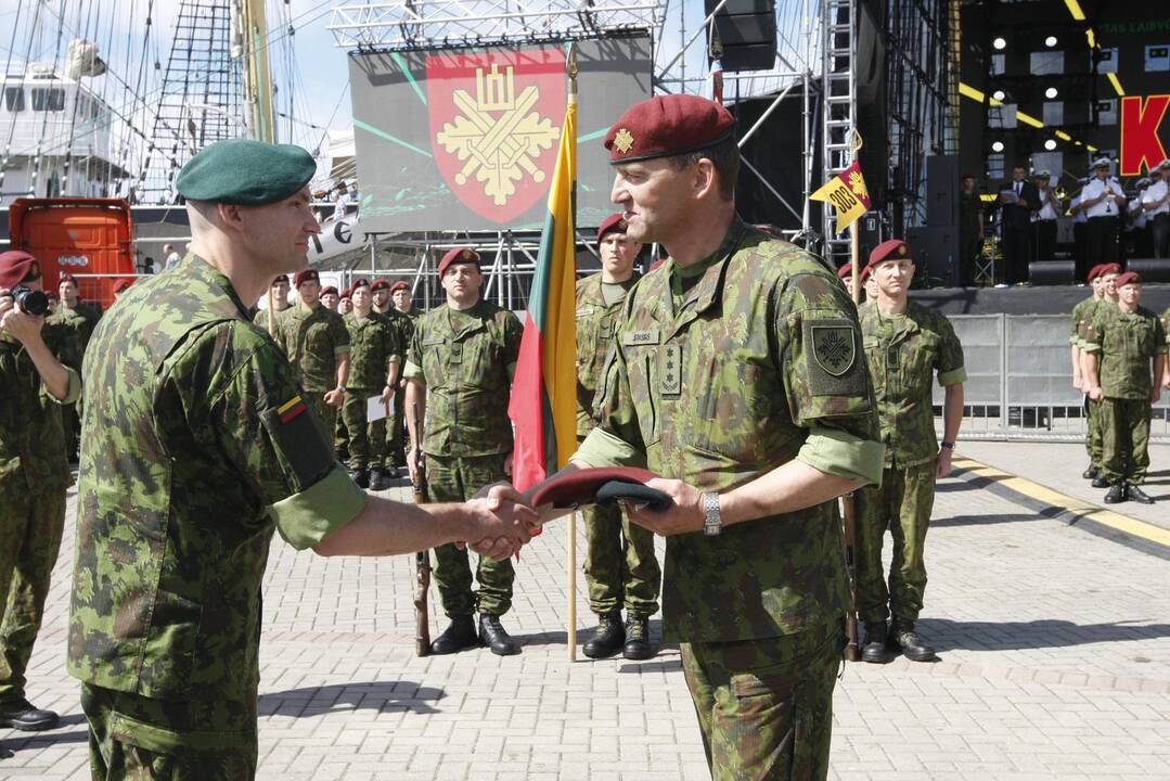
<path fill-rule="evenodd" d="M 84 371 L 68 670 L 94 777 L 250 779 L 273 532 L 308 548 L 365 493 L 232 283 L 194 255 L 119 300 Z"/>

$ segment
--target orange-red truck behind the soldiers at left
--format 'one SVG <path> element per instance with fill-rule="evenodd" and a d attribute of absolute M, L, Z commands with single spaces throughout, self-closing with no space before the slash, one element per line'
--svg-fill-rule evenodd
<path fill-rule="evenodd" d="M 18 198 L 8 207 L 8 235 L 9 248 L 41 262 L 46 293 L 73 274 L 81 299 L 104 310 L 113 283 L 135 275 L 133 224 L 121 198 Z"/>

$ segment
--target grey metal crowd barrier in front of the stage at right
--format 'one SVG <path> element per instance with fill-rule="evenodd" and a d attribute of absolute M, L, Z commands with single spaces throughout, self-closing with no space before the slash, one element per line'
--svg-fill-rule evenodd
<path fill-rule="evenodd" d="M 950 315 L 963 343 L 964 439 L 1085 439 L 1085 398 L 1073 388 L 1064 315 Z M 1170 391 L 1154 406 L 1150 439 L 1170 443 Z M 934 390 L 941 427 L 943 392 Z"/>

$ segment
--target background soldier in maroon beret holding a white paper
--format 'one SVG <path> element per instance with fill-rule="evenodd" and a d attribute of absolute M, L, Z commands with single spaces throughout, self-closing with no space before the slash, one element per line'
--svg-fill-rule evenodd
<path fill-rule="evenodd" d="M 381 471 L 386 418 L 369 423 L 366 399 L 380 396 L 383 404 L 390 404 L 402 348 L 394 323 L 371 309 L 370 282 L 355 281 L 350 295 L 353 311 L 345 316 L 345 327 L 350 329 L 350 385 L 342 406 L 349 432 L 350 471 L 363 488 L 381 491 L 386 487 Z"/>

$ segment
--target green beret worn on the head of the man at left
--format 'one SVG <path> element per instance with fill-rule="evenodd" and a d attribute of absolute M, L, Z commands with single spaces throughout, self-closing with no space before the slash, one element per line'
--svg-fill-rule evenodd
<path fill-rule="evenodd" d="M 317 162 L 300 146 L 233 138 L 200 150 L 174 187 L 190 200 L 263 206 L 296 194 L 316 172 Z"/>

